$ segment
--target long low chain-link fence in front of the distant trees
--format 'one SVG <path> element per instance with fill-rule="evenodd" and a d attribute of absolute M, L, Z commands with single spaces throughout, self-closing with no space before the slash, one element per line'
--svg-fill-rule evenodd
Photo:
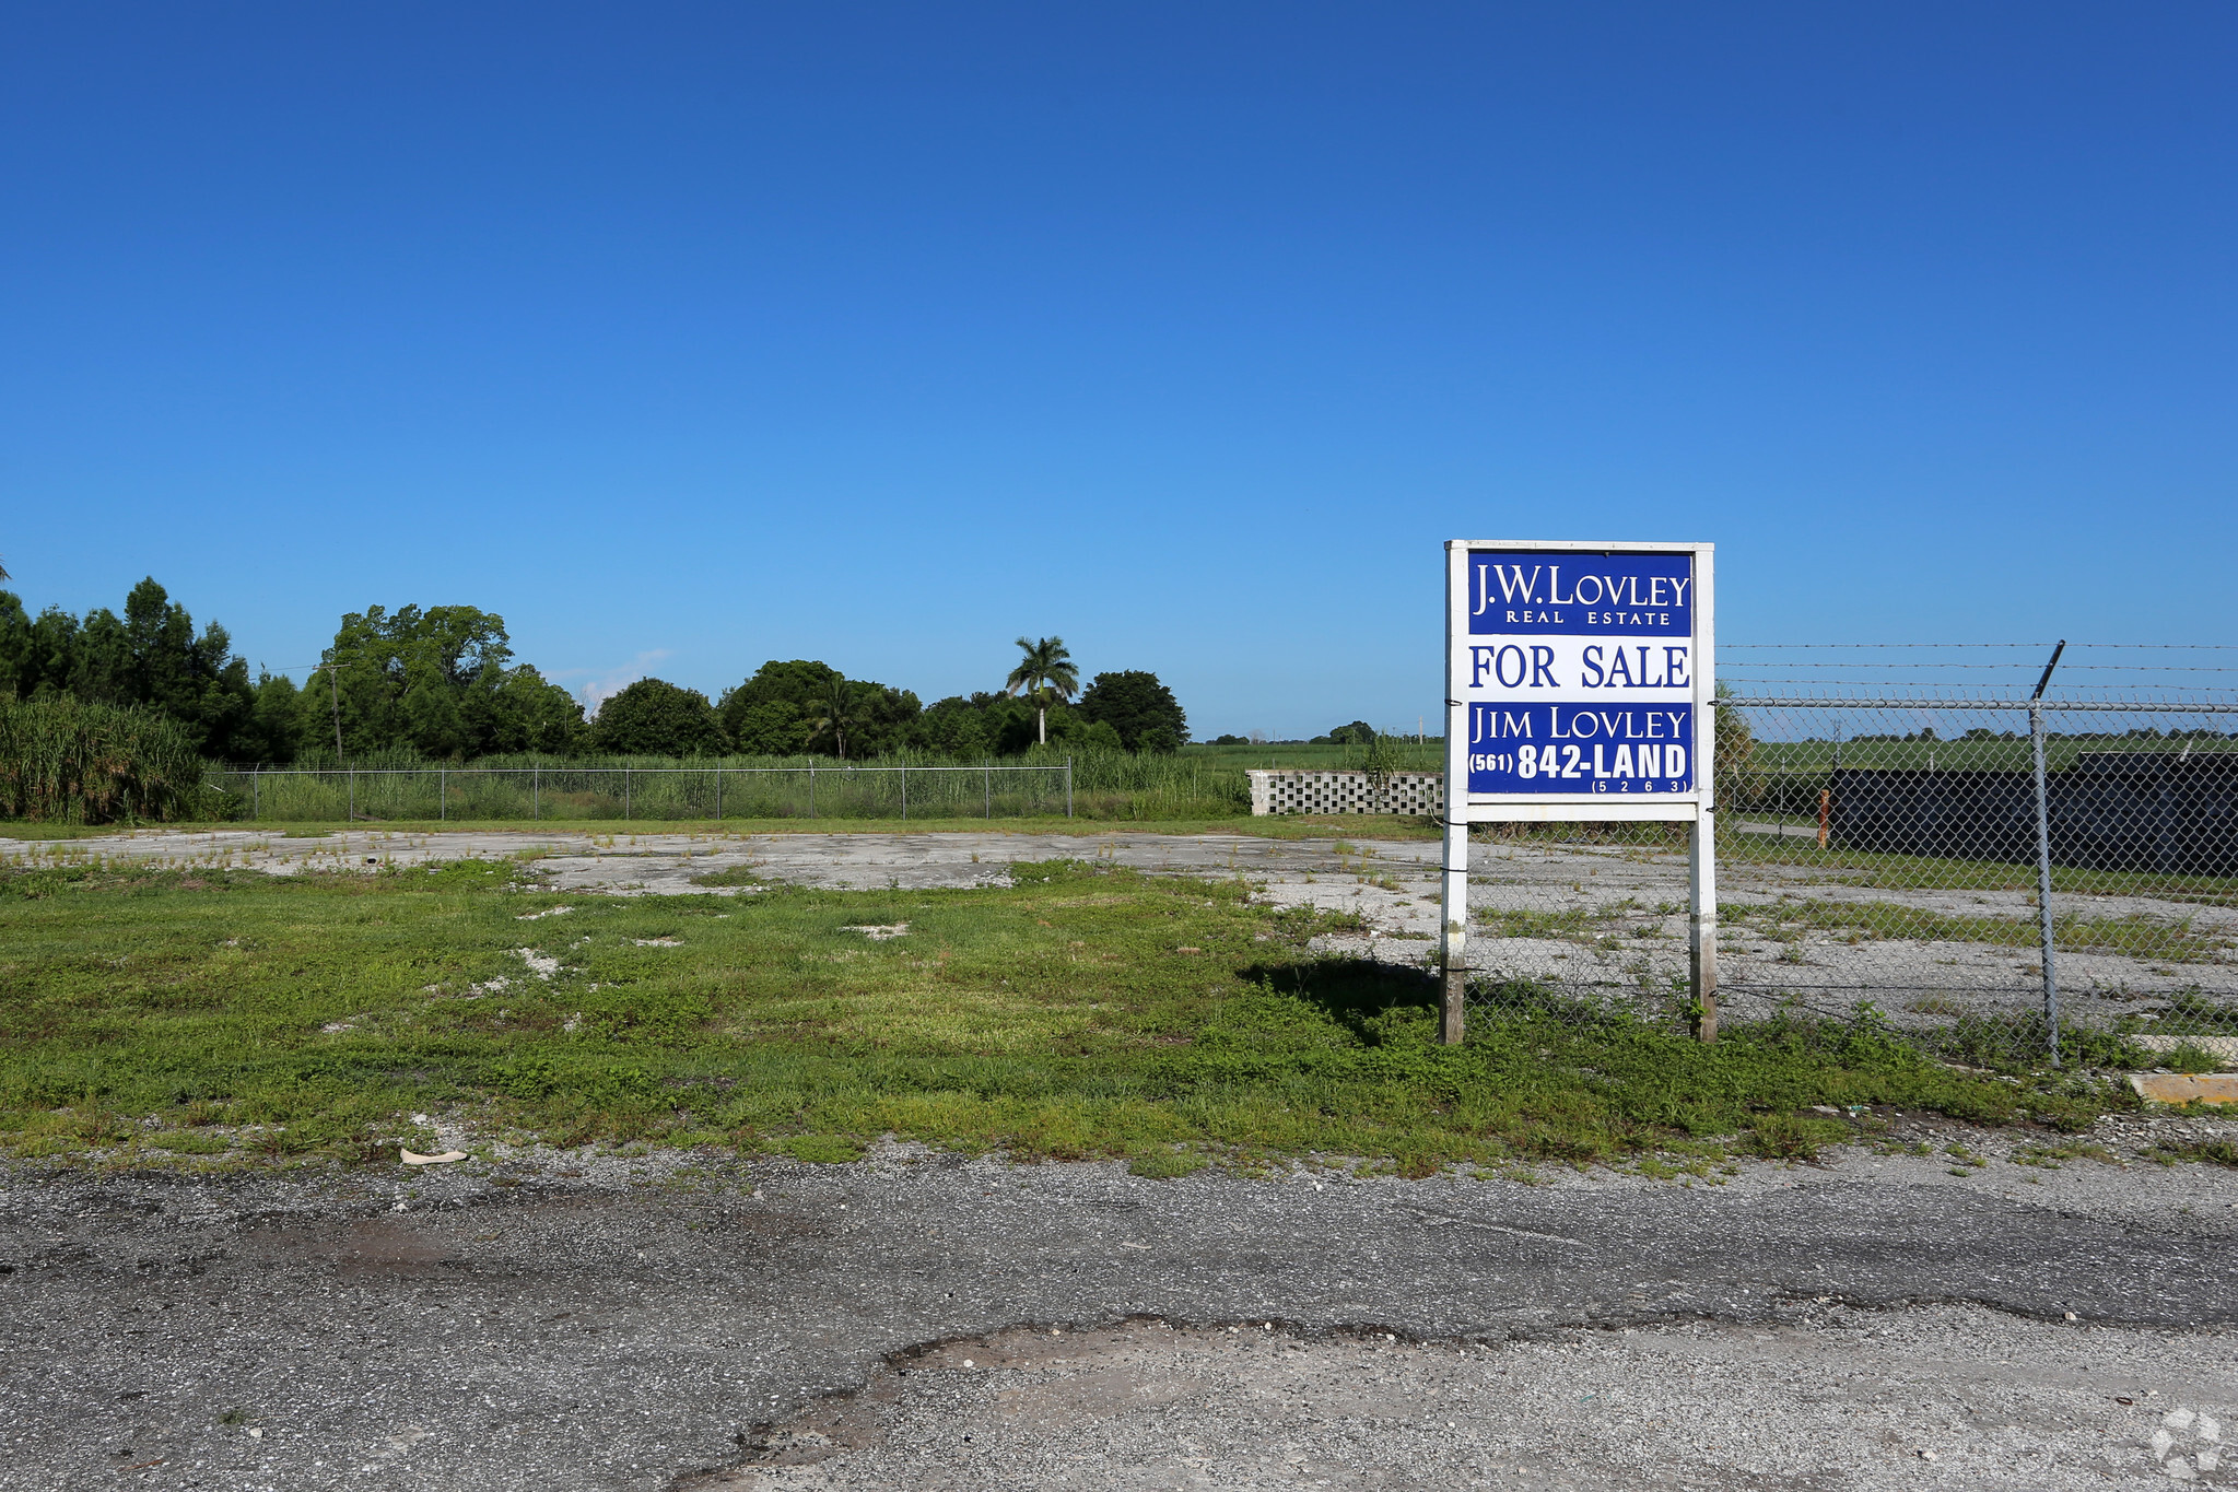
<path fill-rule="evenodd" d="M 978 767 L 228 767 L 251 821 L 1072 816 L 1072 763 Z"/>

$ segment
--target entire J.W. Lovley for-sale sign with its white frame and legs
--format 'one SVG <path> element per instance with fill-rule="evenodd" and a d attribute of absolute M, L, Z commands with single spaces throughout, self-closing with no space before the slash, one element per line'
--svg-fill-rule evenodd
<path fill-rule="evenodd" d="M 1696 1033 L 1717 1038 L 1710 544 L 1446 544 L 1439 1040 L 1468 980 L 1468 825 L 1685 823 Z"/>

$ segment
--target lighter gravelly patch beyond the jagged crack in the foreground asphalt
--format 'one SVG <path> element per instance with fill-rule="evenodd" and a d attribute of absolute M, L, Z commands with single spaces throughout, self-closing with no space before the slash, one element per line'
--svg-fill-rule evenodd
<path fill-rule="evenodd" d="M 2234 1403 L 2227 1333 L 1974 1306 L 1502 1342 L 1135 1320 L 895 1353 L 671 1492 L 2229 1485 Z"/>

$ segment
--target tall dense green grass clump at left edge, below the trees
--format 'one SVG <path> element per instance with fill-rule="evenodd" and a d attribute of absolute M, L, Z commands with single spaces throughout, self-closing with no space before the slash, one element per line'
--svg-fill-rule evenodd
<path fill-rule="evenodd" d="M 170 718 L 78 700 L 0 705 L 0 816 L 47 823 L 192 819 L 206 763 Z"/>

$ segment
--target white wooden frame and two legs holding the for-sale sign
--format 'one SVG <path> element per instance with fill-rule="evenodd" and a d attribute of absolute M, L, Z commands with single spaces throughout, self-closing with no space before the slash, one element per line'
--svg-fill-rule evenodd
<path fill-rule="evenodd" d="M 1470 792 L 1470 553 L 1499 550 L 1562 557 L 1690 555 L 1692 608 L 1692 785 L 1683 792 Z M 1446 854 L 1439 966 L 1444 1000 L 1439 1040 L 1459 1042 L 1468 980 L 1468 825 L 1470 823 L 1685 823 L 1687 837 L 1687 971 L 1694 1029 L 1717 1040 L 1717 546 L 1585 539 L 1448 539 L 1446 541 Z M 1513 615 L 1513 613 L 1511 613 Z M 1585 635 L 1585 633 L 1544 633 Z"/>

